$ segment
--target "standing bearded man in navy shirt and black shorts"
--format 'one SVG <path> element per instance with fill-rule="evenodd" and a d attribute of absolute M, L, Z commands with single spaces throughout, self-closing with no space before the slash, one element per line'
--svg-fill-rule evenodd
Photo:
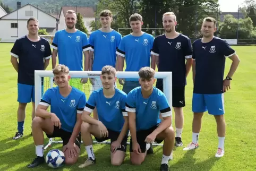
<path fill-rule="evenodd" d="M 175 112 L 176 137 L 175 146 L 183 146 L 181 134 L 183 129 L 183 107 L 185 106 L 186 77 L 192 66 L 192 45 L 190 39 L 176 32 L 176 16 L 173 12 L 163 15 L 165 35 L 158 36 L 151 54 L 155 55 L 159 72 L 171 71 L 173 77 L 173 108 Z M 163 79 L 157 79 L 156 87 L 163 91 Z"/>

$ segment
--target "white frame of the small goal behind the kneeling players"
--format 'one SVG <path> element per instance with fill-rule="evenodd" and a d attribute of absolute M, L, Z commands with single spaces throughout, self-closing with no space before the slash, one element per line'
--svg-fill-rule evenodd
<path fill-rule="evenodd" d="M 139 72 L 117 72 L 117 78 L 123 79 L 139 79 Z M 101 75 L 101 71 L 70 71 L 71 78 L 99 78 Z M 52 71 L 35 71 L 35 107 L 37 108 L 41 97 L 42 97 L 42 78 L 49 78 L 49 88 L 53 87 L 53 72 Z M 163 79 L 163 90 L 164 94 L 169 102 L 170 107 L 172 108 L 172 72 L 156 72 L 156 79 Z M 89 82 L 89 81 L 88 81 Z M 53 139 L 49 139 L 49 142 L 45 149 L 50 146 L 52 143 L 62 143 L 62 141 L 53 141 Z M 93 143 L 98 143 L 97 141 L 93 141 Z M 104 141 L 102 143 L 109 143 Z M 130 142 L 127 142 L 130 144 Z M 153 146 L 163 146 L 163 144 L 152 144 Z"/>

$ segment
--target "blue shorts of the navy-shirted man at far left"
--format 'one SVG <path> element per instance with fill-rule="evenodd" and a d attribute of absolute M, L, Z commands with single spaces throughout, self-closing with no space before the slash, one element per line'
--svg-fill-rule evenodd
<path fill-rule="evenodd" d="M 44 86 L 42 86 L 41 91 L 44 93 Z M 35 86 L 18 83 L 17 101 L 22 103 L 35 102 Z"/>

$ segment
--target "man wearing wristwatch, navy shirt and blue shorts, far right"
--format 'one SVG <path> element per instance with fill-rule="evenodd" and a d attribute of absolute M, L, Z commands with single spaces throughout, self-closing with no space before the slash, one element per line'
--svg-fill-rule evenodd
<path fill-rule="evenodd" d="M 215 157 L 224 156 L 226 123 L 224 119 L 224 92 L 230 89 L 232 76 L 240 59 L 226 41 L 215 37 L 216 20 L 205 18 L 201 27 L 203 37 L 193 42 L 193 99 L 194 113 L 192 124 L 192 142 L 183 150 L 199 147 L 198 137 L 201 130 L 203 113 L 208 110 L 217 123 L 218 149 Z M 226 58 L 232 60 L 229 72 L 224 79 Z M 224 79 L 224 80 L 223 80 Z"/>

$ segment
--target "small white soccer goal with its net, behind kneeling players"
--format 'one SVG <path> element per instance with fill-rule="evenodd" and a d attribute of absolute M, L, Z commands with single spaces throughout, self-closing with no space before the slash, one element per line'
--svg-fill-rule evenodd
<path fill-rule="evenodd" d="M 83 91 L 86 94 L 87 100 L 90 96 L 90 92 L 93 91 L 92 85 L 89 81 L 89 79 L 96 80 L 96 84 L 100 84 L 100 75 L 101 71 L 70 71 L 70 76 L 73 79 L 74 87 L 75 85 L 81 85 L 80 79 L 81 78 L 88 78 L 88 82 L 83 84 L 83 86 L 77 86 L 76 88 L 79 88 L 81 91 Z M 35 105 L 36 108 L 41 100 L 42 94 L 51 87 L 56 86 L 53 83 L 53 72 L 52 71 L 35 71 Z M 117 79 L 139 79 L 138 72 L 117 72 L 116 73 Z M 169 102 L 169 105 L 172 106 L 172 72 L 156 72 L 155 74 L 156 79 L 163 79 L 163 90 L 166 95 L 166 98 Z M 44 80 L 42 82 L 42 79 Z M 71 80 L 72 80 L 71 79 Z M 42 92 L 42 86 L 44 87 Z M 122 90 L 121 84 L 116 84 L 118 89 Z M 50 108 L 50 106 L 49 106 Z M 49 109 L 50 110 L 50 109 Z M 49 146 L 51 146 L 52 143 L 62 143 L 62 141 L 54 141 L 55 139 L 49 139 L 48 144 L 45 146 L 45 149 L 47 149 Z M 98 143 L 97 141 L 93 141 L 93 143 Z M 108 144 L 109 141 L 104 141 L 100 143 Z M 130 142 L 127 142 L 127 144 L 130 144 Z M 163 144 L 153 143 L 153 146 L 163 146 Z"/>

